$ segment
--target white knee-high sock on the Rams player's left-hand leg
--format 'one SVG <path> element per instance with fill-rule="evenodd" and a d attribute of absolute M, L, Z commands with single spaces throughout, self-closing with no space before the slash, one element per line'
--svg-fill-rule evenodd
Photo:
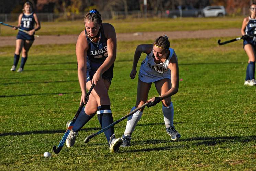
<path fill-rule="evenodd" d="M 133 111 L 134 109 L 136 109 L 135 106 L 132 108 L 131 111 Z M 124 131 L 125 136 L 132 135 L 132 132 L 134 131 L 138 121 L 141 119 L 141 116 L 142 116 L 142 111 L 139 110 L 139 111 L 136 111 L 133 115 L 128 117 L 126 129 Z"/>

